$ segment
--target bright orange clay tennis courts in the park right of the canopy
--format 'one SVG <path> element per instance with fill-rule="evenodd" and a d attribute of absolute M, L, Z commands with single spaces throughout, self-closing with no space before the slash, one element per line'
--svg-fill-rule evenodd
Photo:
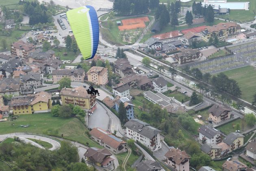
<path fill-rule="evenodd" d="M 139 17 L 139 18 L 130 18 L 130 19 L 122 19 L 122 26 L 118 26 L 120 31 L 123 30 L 132 30 L 137 28 L 145 28 L 145 22 L 149 22 L 148 17 Z"/>

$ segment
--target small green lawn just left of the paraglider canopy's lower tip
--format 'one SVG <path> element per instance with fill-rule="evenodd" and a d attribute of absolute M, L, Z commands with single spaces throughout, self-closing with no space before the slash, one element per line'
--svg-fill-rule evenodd
<path fill-rule="evenodd" d="M 76 52 L 76 54 L 74 52 L 72 52 L 71 50 L 67 50 L 67 48 L 52 48 L 52 50 L 55 53 L 55 56 L 59 56 L 60 57 L 60 60 L 64 60 L 64 61 L 73 61 L 78 55 L 80 52 Z M 67 53 L 66 55 L 64 55 L 64 53 Z"/>

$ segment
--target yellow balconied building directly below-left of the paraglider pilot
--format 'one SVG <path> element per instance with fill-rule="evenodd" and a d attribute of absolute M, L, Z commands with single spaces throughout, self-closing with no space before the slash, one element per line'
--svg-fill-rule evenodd
<path fill-rule="evenodd" d="M 75 89 L 63 88 L 60 95 L 63 105 L 74 104 L 90 111 L 96 108 L 96 96 L 89 95 L 84 87 L 77 87 Z"/>

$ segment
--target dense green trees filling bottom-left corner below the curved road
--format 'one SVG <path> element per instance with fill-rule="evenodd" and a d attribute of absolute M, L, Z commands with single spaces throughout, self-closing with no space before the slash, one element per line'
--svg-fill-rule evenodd
<path fill-rule="evenodd" d="M 93 171 L 85 163 L 79 163 L 78 149 L 72 143 L 61 142 L 55 151 L 45 150 L 23 143 L 15 138 L 15 143 L 0 146 L 0 159 L 11 163 L 14 171 Z"/>

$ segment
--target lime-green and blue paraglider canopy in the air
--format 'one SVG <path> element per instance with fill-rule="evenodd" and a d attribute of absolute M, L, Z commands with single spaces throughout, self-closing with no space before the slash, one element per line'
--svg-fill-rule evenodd
<path fill-rule="evenodd" d="M 67 19 L 83 58 L 93 58 L 99 44 L 99 21 L 95 9 L 87 5 L 69 10 Z"/>

